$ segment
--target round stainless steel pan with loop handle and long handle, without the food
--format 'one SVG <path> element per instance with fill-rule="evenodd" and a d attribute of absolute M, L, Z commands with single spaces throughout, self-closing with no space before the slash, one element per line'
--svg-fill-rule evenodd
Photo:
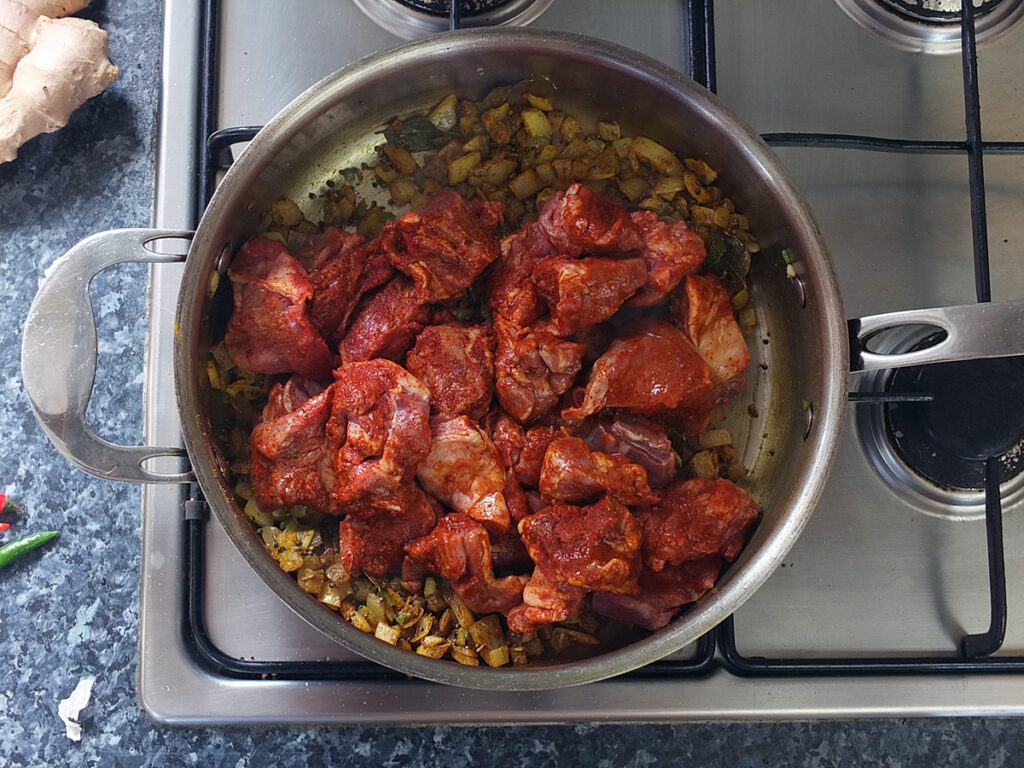
<path fill-rule="evenodd" d="M 204 365 L 216 307 L 208 288 L 257 228 L 257 214 L 287 196 L 307 200 L 339 168 L 372 157 L 375 132 L 397 115 L 442 96 L 481 96 L 529 79 L 560 109 L 617 120 L 625 131 L 684 156 L 707 157 L 721 185 L 762 243 L 753 267 L 757 334 L 745 400 L 729 424 L 751 470 L 748 487 L 764 516 L 718 585 L 665 630 L 625 647 L 559 664 L 467 668 L 402 651 L 365 635 L 303 592 L 264 551 L 228 485 L 221 449 L 208 439 Z M 475 688 L 545 689 L 586 683 L 676 651 L 728 616 L 779 566 L 804 528 L 828 475 L 842 429 L 855 329 L 855 370 L 1024 352 L 1024 303 L 928 310 L 847 323 L 828 254 L 802 195 L 764 142 L 703 88 L 645 56 L 579 36 L 521 29 L 464 31 L 388 50 L 338 72 L 299 96 L 256 136 L 227 172 L 196 230 L 176 317 L 175 383 L 193 473 L 161 472 L 155 457 L 176 447 L 121 447 L 96 437 L 84 414 L 95 370 L 91 275 L 118 261 L 168 261 L 159 230 L 106 232 L 59 259 L 30 312 L 24 339 L 26 390 L 43 428 L 73 462 L 112 479 L 164 482 L 195 477 L 219 522 L 260 577 L 309 624 L 380 664 L 429 680 Z M 787 276 L 781 251 L 797 258 Z M 988 341 L 964 315 L 987 318 Z M 973 322 L 972 322 L 973 323 Z M 866 350 L 892 325 L 938 325 L 947 339 L 905 355 Z M 996 329 L 993 331 L 993 329 Z M 973 334 L 973 335 L 972 335 Z M 757 417 L 743 407 L 753 403 Z"/>

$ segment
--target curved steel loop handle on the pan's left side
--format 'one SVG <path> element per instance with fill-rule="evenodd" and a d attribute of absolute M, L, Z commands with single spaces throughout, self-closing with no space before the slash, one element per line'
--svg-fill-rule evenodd
<path fill-rule="evenodd" d="M 36 294 L 22 339 L 22 380 L 46 435 L 73 464 L 111 480 L 187 482 L 191 472 L 161 473 L 142 466 L 159 457 L 182 458 L 183 449 L 108 442 L 85 423 L 96 375 L 96 322 L 89 283 L 124 262 L 172 263 L 181 255 L 154 253 L 163 239 L 191 239 L 190 231 L 115 229 L 74 246 L 54 263 Z"/>

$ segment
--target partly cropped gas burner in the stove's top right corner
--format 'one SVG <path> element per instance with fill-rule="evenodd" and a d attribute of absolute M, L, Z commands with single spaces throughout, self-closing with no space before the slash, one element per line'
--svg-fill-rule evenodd
<path fill-rule="evenodd" d="M 961 50 L 961 0 L 836 0 L 853 20 L 914 53 Z M 1024 0 L 974 0 L 975 37 L 987 43 L 1024 18 Z"/>

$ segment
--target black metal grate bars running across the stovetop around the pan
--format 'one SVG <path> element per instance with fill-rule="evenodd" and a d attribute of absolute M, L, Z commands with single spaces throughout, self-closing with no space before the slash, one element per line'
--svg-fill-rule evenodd
<path fill-rule="evenodd" d="M 367 9 L 371 5 L 388 4 L 388 7 L 398 7 L 396 0 L 352 0 Z M 532 3 L 535 10 L 547 8 L 554 0 L 524 0 Z M 870 2 L 879 0 L 837 0 L 843 6 L 854 2 Z M 1007 0 L 1010 7 L 1017 8 L 1024 0 Z M 518 0 L 512 0 L 513 4 Z M 697 82 L 710 90 L 715 90 L 716 58 L 714 34 L 714 0 L 687 0 L 688 24 L 686 29 L 687 42 L 690 50 L 690 72 Z M 507 7 L 507 6 L 504 6 Z M 878 8 L 879 6 L 876 5 Z M 971 6 L 969 6 L 970 8 Z M 257 127 L 240 126 L 217 131 L 215 128 L 216 97 L 218 93 L 216 76 L 216 35 L 218 29 L 218 3 L 207 0 L 205 4 L 205 47 L 203 52 L 204 79 L 201 89 L 201 114 L 205 116 L 205 135 L 207 136 L 204 152 L 199 153 L 200 190 L 197 220 L 203 213 L 205 203 L 212 194 L 218 168 L 229 164 L 230 146 L 245 142 L 255 135 Z M 846 9 L 846 8 L 844 8 Z M 369 11 L 368 11 L 369 12 Z M 455 13 L 454 15 L 458 15 Z M 379 20 L 379 19 L 377 19 Z M 1010 154 L 1024 153 L 1024 143 L 1002 142 L 992 144 L 983 142 L 980 136 L 980 108 L 978 104 L 977 61 L 974 56 L 973 14 L 968 10 L 965 14 L 965 29 L 970 33 L 962 43 L 956 41 L 957 49 L 963 45 L 965 53 L 965 92 L 968 95 L 968 152 L 980 160 L 982 148 L 988 152 L 1005 152 Z M 453 27 L 458 25 L 453 24 Z M 764 136 L 769 143 L 782 146 L 834 146 L 857 150 L 894 153 L 943 153 L 953 154 L 965 151 L 964 142 L 959 141 L 912 141 L 904 139 L 882 139 L 878 137 L 851 136 L 841 134 L 795 134 L 779 133 Z M 979 163 L 980 165 L 980 163 Z M 984 211 L 983 179 L 980 173 L 972 173 L 970 177 L 972 211 Z M 976 227 L 984 231 L 984 227 Z M 988 264 L 987 247 L 984 237 L 975 239 L 976 272 L 983 276 L 982 283 L 987 286 Z M 987 293 L 987 289 L 985 291 Z M 984 300 L 988 300 L 985 298 Z M 890 350 L 891 351 L 891 350 Z M 881 386 L 873 392 L 867 391 L 868 402 L 892 402 L 897 397 L 892 392 L 882 392 Z M 860 393 L 858 393 L 860 394 Z M 899 393 L 897 393 L 899 394 Z M 866 407 L 858 410 L 859 414 L 877 413 L 879 408 Z M 1021 410 L 1008 416 L 1018 422 Z M 858 427 L 860 425 L 858 424 Z M 189 652 L 205 669 L 225 677 L 246 679 L 350 679 L 368 681 L 375 679 L 392 679 L 395 673 L 384 670 L 369 662 L 348 662 L 340 664 L 325 664 L 324 662 L 288 662 L 288 660 L 253 660 L 237 659 L 225 655 L 217 648 L 206 634 L 204 623 L 205 591 L 203 579 L 204 537 L 208 520 L 205 502 L 200 501 L 198 486 L 194 488 L 193 500 L 184 505 L 184 525 L 186 550 L 188 557 L 184 558 L 182 568 L 185 575 L 184 602 L 186 608 L 184 636 Z M 991 495 L 998 499 L 997 490 Z M 986 514 L 989 528 L 989 571 L 990 596 L 992 601 L 991 626 L 987 632 L 968 635 L 962 638 L 961 653 L 948 655 L 944 652 L 925 656 L 837 656 L 837 657 L 765 657 L 746 656 L 740 651 L 736 641 L 735 621 L 727 617 L 718 628 L 712 630 L 697 642 L 696 652 L 692 658 L 680 662 L 656 662 L 646 668 L 631 673 L 637 678 L 660 678 L 663 676 L 700 676 L 710 672 L 719 664 L 715 656 L 716 644 L 721 651 L 721 666 L 732 674 L 743 677 L 802 677 L 802 676 L 855 676 L 855 675 L 892 675 L 892 674 L 957 674 L 968 673 L 1019 673 L 1024 674 L 1024 656 L 993 655 L 1002 642 L 1006 628 L 1006 580 L 1002 572 L 1001 530 L 999 521 L 1001 514 L 997 503 L 991 503 L 994 513 Z M 993 531 L 995 531 L 993 534 Z M 409 682 L 403 676 L 397 676 L 399 682 Z"/>

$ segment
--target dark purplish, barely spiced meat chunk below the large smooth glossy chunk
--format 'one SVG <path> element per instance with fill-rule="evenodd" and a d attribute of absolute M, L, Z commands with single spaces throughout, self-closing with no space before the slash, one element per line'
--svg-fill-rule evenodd
<path fill-rule="evenodd" d="M 584 439 L 595 451 L 622 454 L 639 464 L 652 488 L 667 485 L 676 476 L 672 440 L 662 427 L 642 416 L 603 413 Z"/>

